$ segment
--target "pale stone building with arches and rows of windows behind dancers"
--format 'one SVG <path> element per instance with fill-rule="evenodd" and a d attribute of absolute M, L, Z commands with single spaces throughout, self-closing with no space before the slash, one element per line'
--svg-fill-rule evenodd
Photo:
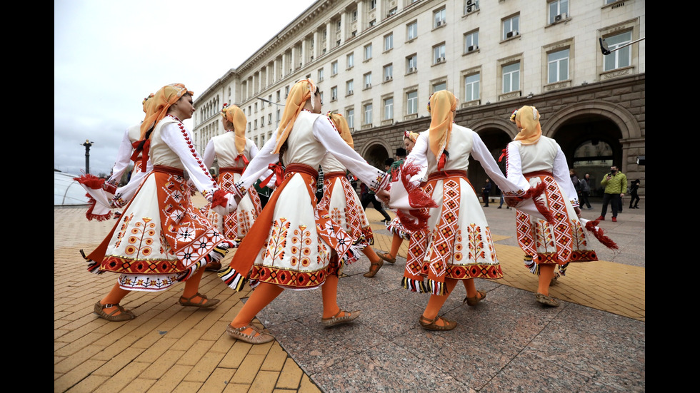
<path fill-rule="evenodd" d="M 510 113 L 536 106 L 579 175 L 596 184 L 618 165 L 644 195 L 645 21 L 641 0 L 319 0 L 197 97 L 196 145 L 224 132 L 218 113 L 234 103 L 262 146 L 289 88 L 312 78 L 323 111 L 346 116 L 355 149 L 383 168 L 404 130 L 428 128 L 430 94 L 447 89 L 456 123 L 494 158 L 516 133 Z M 604 55 L 599 39 L 620 49 Z M 486 175 L 477 164 L 469 178 Z"/>

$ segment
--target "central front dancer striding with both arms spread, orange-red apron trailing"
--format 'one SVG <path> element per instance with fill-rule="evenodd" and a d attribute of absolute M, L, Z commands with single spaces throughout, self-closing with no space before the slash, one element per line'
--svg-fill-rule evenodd
<path fill-rule="evenodd" d="M 226 332 L 252 344 L 274 340 L 251 325 L 255 315 L 282 290 L 321 287 L 326 327 L 355 320 L 359 311 L 346 312 L 337 303 L 341 261 L 351 247 L 351 235 L 316 207 L 316 168 L 326 151 L 334 155 L 377 195 L 389 196 L 389 177 L 365 163 L 321 113 L 321 93 L 311 80 L 299 81 L 289 92 L 284 115 L 276 131 L 236 184 L 241 198 L 270 165 L 281 182 L 253 228 L 243 239 L 228 268 L 219 276 L 226 285 L 241 290 L 250 272 L 251 297 Z M 284 162 L 284 173 L 279 161 Z"/>

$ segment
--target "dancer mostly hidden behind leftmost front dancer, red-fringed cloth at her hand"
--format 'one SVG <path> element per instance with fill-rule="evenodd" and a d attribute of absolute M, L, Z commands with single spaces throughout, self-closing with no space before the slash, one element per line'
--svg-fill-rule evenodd
<path fill-rule="evenodd" d="M 144 113 L 148 113 L 149 106 L 153 102 L 151 100 L 153 96 L 154 94 L 151 93 L 141 103 Z M 119 150 L 117 150 L 116 162 L 112 168 L 111 176 L 107 180 L 89 173 L 74 179 L 83 186 L 90 198 L 86 213 L 88 220 L 109 220 L 112 216 L 111 209 L 124 208 L 126 203 L 134 197 L 136 190 L 141 185 L 141 181 L 153 169 L 151 160 L 147 156 L 144 160 L 140 150 L 136 152 L 136 144 L 138 144 L 140 138 L 141 123 L 126 128 L 124 138 L 121 139 L 121 145 L 119 145 Z M 129 183 L 118 188 L 119 180 L 121 180 L 121 176 L 124 175 L 126 169 L 129 168 L 131 161 L 134 162 L 134 168 L 131 170 Z M 146 171 L 141 170 L 142 165 L 145 165 Z"/>

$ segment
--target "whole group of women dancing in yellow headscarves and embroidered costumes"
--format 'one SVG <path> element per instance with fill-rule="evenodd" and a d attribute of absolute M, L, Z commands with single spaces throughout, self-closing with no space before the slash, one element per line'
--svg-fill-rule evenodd
<path fill-rule="evenodd" d="M 512 113 L 518 133 L 506 148 L 504 175 L 479 134 L 454 123 L 457 99 L 449 91 L 430 96 L 429 129 L 404 133 L 407 156 L 389 171 L 356 153 L 343 116 L 322 113 L 314 81 L 294 84 L 274 138 L 261 147 L 245 136 L 244 111 L 224 104 L 226 133 L 211 138 L 204 156 L 182 123 L 194 113 L 192 100 L 193 93 L 181 83 L 149 95 L 144 121 L 126 130 L 111 177 L 76 178 L 91 196 L 89 219 L 108 219 L 112 209 L 123 209 L 99 247 L 83 254 L 89 271 L 119 274 L 94 305 L 96 315 L 106 320 L 136 317 L 120 304 L 129 292 L 167 290 L 180 281 L 185 282 L 180 305 L 215 307 L 219 300 L 199 292 L 204 271 L 214 270 L 232 290 L 254 289 L 226 327 L 236 340 L 274 340 L 252 321 L 283 290 L 321 287 L 319 322 L 326 327 L 349 323 L 361 312 L 338 304 L 343 268 L 365 255 L 370 262 L 365 277 L 374 277 L 384 262 L 396 262 L 401 243 L 408 241 L 404 277 L 397 286 L 429 294 L 418 317 L 421 327 L 454 329 L 456 322 L 439 312 L 457 283 L 466 289 L 464 302 L 476 307 L 486 292 L 476 289 L 474 278 L 503 277 L 489 223 L 467 178 L 470 157 L 516 208 L 518 242 L 526 266 L 539 277 L 537 302 L 556 307 L 549 285 L 570 262 L 597 260 L 591 235 L 615 247 L 595 221 L 580 218 L 566 158 L 556 141 L 541 135 L 539 112 L 532 106 Z M 217 180 L 209 172 L 215 159 Z M 129 183 L 118 188 L 130 161 Z M 320 200 L 319 168 L 324 173 Z M 351 184 L 354 178 L 396 210 L 386 225 L 393 235 L 389 252 L 372 247 L 374 235 Z M 274 189 L 264 208 L 256 183 Z M 206 198 L 204 208 L 193 205 L 192 190 Z M 230 263 L 222 265 L 234 249 Z"/>

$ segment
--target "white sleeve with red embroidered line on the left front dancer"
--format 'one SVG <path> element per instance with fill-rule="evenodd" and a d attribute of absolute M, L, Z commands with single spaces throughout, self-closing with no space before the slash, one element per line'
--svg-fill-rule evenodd
<path fill-rule="evenodd" d="M 189 134 L 189 131 L 188 131 Z M 182 165 L 189 173 L 189 178 L 204 198 L 211 202 L 214 191 L 219 190 L 216 181 L 211 178 L 209 170 L 196 150 L 190 149 L 176 123 L 166 124 L 161 130 L 161 139 L 180 158 Z"/>

